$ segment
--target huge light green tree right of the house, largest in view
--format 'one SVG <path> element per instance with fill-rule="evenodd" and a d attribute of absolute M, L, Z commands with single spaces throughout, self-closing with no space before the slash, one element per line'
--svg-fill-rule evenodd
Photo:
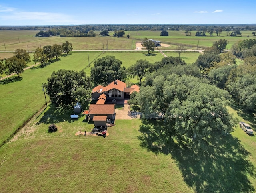
<path fill-rule="evenodd" d="M 152 86 L 140 87 L 137 96 L 143 118 L 164 118 L 159 136 L 163 140 L 206 151 L 212 140 L 233 130 L 233 118 L 225 107 L 229 94 L 203 79 L 159 75 Z"/>

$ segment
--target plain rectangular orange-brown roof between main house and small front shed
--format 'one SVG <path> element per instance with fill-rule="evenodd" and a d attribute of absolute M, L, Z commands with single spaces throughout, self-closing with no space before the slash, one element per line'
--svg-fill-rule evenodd
<path fill-rule="evenodd" d="M 114 114 L 115 104 L 90 104 L 89 114 Z"/>

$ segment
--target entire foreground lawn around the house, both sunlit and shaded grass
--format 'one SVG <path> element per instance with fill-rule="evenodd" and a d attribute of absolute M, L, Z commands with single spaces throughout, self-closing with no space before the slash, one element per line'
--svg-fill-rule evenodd
<path fill-rule="evenodd" d="M 253 118 L 241 114 L 242 109 L 229 110 L 240 120 Z M 105 138 L 75 136 L 76 132 L 88 132 L 94 126 L 84 122 L 83 115 L 71 120 L 70 113 L 71 108 L 50 105 L 0 148 L 1 192 L 75 189 L 183 193 L 256 189 L 256 138 L 238 126 L 232 135 L 220 139 L 221 148 L 216 146 L 210 156 L 176 147 L 154 154 L 140 146 L 139 119 L 116 120 L 116 126 L 108 128 L 109 136 Z M 55 133 L 47 132 L 51 123 L 58 127 Z M 157 121 L 152 124 L 159 126 Z"/>

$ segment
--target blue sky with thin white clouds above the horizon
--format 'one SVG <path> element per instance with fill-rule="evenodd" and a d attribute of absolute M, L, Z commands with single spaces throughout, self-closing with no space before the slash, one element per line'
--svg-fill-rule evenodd
<path fill-rule="evenodd" d="M 255 23 L 256 0 L 0 0 L 0 26 Z"/>

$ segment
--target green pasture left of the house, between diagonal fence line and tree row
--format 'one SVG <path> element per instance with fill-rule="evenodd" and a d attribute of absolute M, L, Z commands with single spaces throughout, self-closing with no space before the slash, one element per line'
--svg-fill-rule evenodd
<path fill-rule="evenodd" d="M 90 62 L 100 55 L 99 52 L 84 53 L 84 55 L 72 53 L 46 67 L 36 65 L 27 69 L 20 78 L 13 75 L 0 81 L 0 144 L 45 105 L 42 83 L 46 82 L 52 72 L 58 69 L 80 71 L 88 65 L 88 54 Z M 90 69 L 87 69 L 86 73 L 90 74 Z"/>

